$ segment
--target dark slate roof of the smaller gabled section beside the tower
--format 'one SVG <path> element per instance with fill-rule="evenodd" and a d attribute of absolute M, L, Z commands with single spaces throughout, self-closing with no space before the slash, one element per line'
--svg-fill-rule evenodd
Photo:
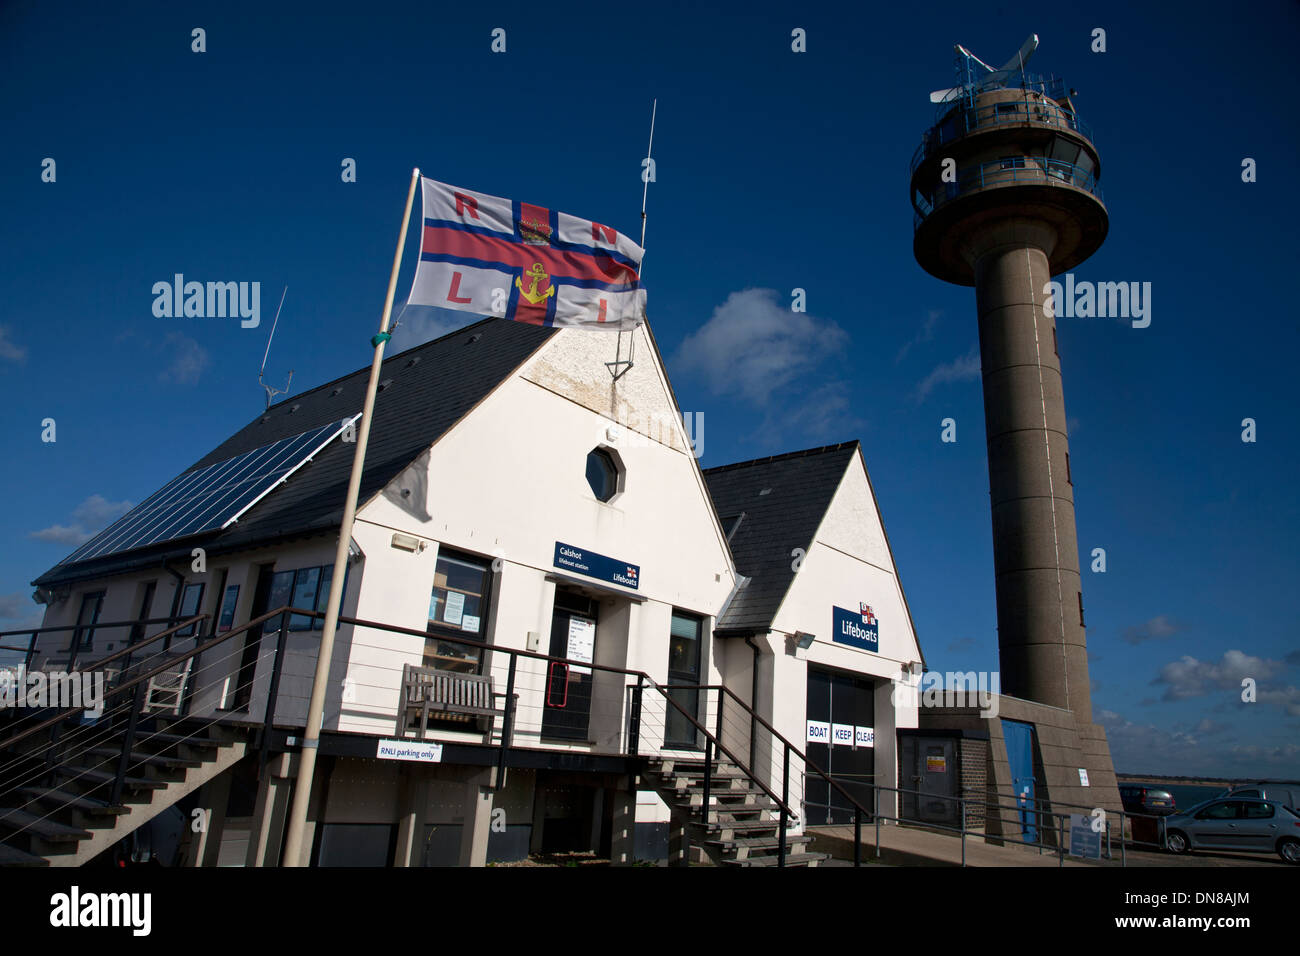
<path fill-rule="evenodd" d="M 705 470 L 723 528 L 729 527 L 729 518 L 744 514 L 731 549 L 736 570 L 750 579 L 719 618 L 719 631 L 771 630 L 794 580 L 790 551 L 809 550 L 857 454 L 858 442 L 846 441 Z"/>

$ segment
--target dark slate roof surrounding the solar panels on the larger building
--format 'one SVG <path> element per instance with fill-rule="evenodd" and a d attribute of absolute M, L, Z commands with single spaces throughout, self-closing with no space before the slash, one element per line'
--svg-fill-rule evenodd
<path fill-rule="evenodd" d="M 536 352 L 555 329 L 485 319 L 384 360 L 374 402 L 359 502 L 377 494 L 403 468 L 446 433 L 488 393 Z M 235 432 L 186 472 L 300 434 L 361 411 L 370 367 L 286 398 Z M 384 385 L 387 382 L 387 385 Z M 281 488 L 257 502 L 225 531 L 160 542 L 75 564 L 56 564 L 32 584 L 157 566 L 195 546 L 209 553 L 251 548 L 286 537 L 338 528 L 356 446 L 335 438 Z"/>

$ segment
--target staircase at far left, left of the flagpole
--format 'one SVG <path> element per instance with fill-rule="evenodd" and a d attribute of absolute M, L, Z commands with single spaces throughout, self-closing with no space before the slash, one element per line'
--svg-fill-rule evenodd
<path fill-rule="evenodd" d="M 0 866 L 81 866 L 187 793 L 224 773 L 247 752 L 240 731 L 216 724 L 165 724 L 140 732 L 126 756 L 92 748 L 53 767 L 36 756 L 13 757 L 6 780 L 32 780 L 0 797 Z"/>

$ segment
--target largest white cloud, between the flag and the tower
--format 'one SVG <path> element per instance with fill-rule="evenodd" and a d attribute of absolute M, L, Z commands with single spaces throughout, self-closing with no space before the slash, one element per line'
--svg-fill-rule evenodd
<path fill-rule="evenodd" d="M 792 312 L 774 289 L 732 293 L 677 349 L 672 369 L 707 381 L 714 394 L 767 405 L 800 375 L 840 354 L 849 333 L 828 319 Z"/>

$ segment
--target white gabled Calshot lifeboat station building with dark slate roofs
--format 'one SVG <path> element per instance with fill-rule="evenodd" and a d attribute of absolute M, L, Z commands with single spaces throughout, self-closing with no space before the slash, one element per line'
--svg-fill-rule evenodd
<path fill-rule="evenodd" d="M 294 862 L 815 864 L 806 827 L 898 816 L 872 787 L 900 786 L 923 658 L 862 447 L 702 470 L 630 334 L 616 378 L 611 336 L 499 319 L 384 362 Z M 34 581 L 26 666 L 108 692 L 10 747 L 57 753 L 0 799 L 10 861 L 183 813 L 191 865 L 286 862 L 368 373 L 270 406 Z"/>

